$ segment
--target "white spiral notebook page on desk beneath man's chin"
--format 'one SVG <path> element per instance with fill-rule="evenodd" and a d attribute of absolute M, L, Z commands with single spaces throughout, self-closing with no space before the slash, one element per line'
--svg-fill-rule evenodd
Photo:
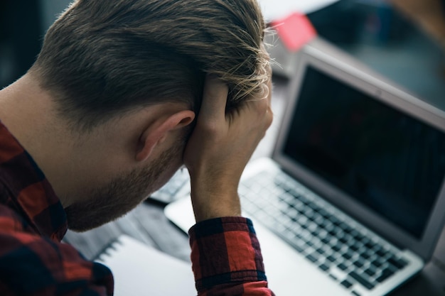
<path fill-rule="evenodd" d="M 96 261 L 112 270 L 115 296 L 197 294 L 191 263 L 124 234 L 111 243 Z"/>

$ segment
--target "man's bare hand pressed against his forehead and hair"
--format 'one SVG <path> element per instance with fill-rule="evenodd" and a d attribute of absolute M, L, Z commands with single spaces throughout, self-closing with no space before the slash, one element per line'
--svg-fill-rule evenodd
<path fill-rule="evenodd" d="M 270 76 L 264 87 L 264 98 L 247 99 L 226 114 L 227 86 L 206 78 L 203 104 L 184 153 L 197 222 L 241 214 L 237 188 L 242 171 L 272 124 Z"/>

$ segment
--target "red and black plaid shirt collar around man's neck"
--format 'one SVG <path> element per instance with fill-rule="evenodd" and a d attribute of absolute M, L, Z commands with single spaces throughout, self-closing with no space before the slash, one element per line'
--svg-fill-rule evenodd
<path fill-rule="evenodd" d="M 0 122 L 0 182 L 16 210 L 41 236 L 61 241 L 68 229 L 65 210 L 31 155 Z"/>

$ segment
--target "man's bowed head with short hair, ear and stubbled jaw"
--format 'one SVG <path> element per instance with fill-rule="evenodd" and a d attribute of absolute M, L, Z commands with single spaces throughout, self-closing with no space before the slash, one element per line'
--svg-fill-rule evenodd
<path fill-rule="evenodd" d="M 227 84 L 227 108 L 261 94 L 263 36 L 256 0 L 74 1 L 27 75 L 53 114 L 32 115 L 45 124 L 28 147 L 69 227 L 122 216 L 178 170 L 205 75 Z"/>

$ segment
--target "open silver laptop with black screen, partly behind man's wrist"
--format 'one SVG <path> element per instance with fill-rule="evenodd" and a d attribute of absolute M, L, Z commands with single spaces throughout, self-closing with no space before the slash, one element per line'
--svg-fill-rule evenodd
<path fill-rule="evenodd" d="M 272 157 L 240 182 L 277 295 L 386 295 L 444 225 L 445 113 L 316 39 L 296 54 Z M 190 198 L 165 213 L 184 231 Z"/>

